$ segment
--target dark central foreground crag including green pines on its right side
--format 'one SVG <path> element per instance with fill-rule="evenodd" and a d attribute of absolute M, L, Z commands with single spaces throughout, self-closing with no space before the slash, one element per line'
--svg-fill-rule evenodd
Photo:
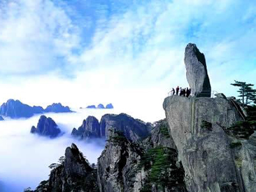
<path fill-rule="evenodd" d="M 97 178 L 100 191 L 186 191 L 176 150 L 141 148 L 120 131 L 110 132 L 98 159 Z"/>

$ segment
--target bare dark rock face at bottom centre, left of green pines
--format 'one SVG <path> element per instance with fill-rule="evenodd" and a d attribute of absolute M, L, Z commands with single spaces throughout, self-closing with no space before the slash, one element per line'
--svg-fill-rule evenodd
<path fill-rule="evenodd" d="M 138 191 L 138 172 L 141 150 L 122 134 L 113 133 L 98 159 L 100 191 Z"/>

